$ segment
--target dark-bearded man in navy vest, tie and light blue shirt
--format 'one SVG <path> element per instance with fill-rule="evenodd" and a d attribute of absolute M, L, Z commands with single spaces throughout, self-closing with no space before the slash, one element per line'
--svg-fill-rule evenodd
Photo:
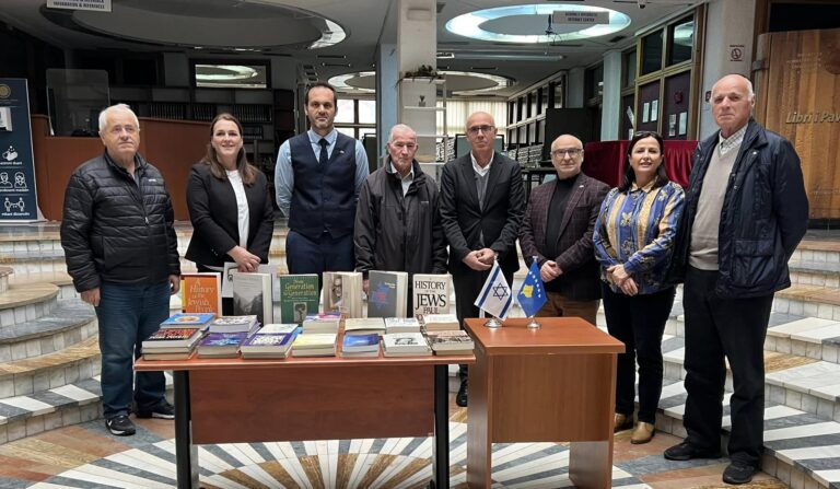
<path fill-rule="evenodd" d="M 328 83 L 306 89 L 310 130 L 283 142 L 277 156 L 277 205 L 289 219 L 285 263 L 290 273 L 350 271 L 359 191 L 368 177 L 368 156 L 359 140 L 337 131 L 336 90 Z"/>

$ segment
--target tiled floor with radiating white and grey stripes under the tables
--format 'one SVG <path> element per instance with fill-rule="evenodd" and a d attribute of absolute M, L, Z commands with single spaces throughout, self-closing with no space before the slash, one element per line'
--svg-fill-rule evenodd
<path fill-rule="evenodd" d="M 451 475 L 466 488 L 468 409 L 451 408 Z M 137 420 L 135 436 L 109 435 L 101 420 L 0 446 L 0 488 L 171 488 L 175 485 L 172 421 Z M 614 487 L 718 488 L 725 458 L 668 462 L 662 452 L 680 440 L 657 433 L 645 445 L 616 435 Z M 493 446 L 494 488 L 570 487 L 568 447 L 555 443 Z M 431 439 L 374 439 L 201 445 L 205 488 L 420 488 L 431 476 Z M 759 474 L 746 488 L 784 488 Z"/>

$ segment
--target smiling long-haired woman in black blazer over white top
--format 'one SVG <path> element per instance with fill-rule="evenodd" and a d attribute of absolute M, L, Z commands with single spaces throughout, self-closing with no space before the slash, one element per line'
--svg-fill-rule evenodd
<path fill-rule="evenodd" d="M 275 211 L 268 181 L 245 158 L 242 124 L 219 114 L 210 124 L 207 154 L 192 166 L 187 184 L 192 237 L 187 259 L 198 271 L 223 270 L 235 261 L 243 272 L 268 263 Z M 223 304 L 224 314 L 231 304 Z"/>

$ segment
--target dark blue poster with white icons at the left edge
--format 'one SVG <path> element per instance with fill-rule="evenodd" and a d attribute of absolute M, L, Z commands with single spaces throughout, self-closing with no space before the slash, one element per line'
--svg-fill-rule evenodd
<path fill-rule="evenodd" d="M 0 221 L 37 220 L 26 80 L 0 78 Z"/>

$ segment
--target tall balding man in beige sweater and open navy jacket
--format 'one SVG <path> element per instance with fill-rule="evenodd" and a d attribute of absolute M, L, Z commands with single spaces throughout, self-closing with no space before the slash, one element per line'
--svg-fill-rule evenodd
<path fill-rule="evenodd" d="M 790 141 L 750 116 L 752 84 L 730 74 L 712 88 L 721 128 L 695 151 L 686 207 L 677 226 L 672 278 L 685 281 L 686 440 L 665 458 L 720 454 L 728 359 L 732 463 L 727 484 L 746 484 L 763 445 L 763 345 L 777 290 L 791 286 L 788 259 L 805 235 L 808 200 Z"/>

